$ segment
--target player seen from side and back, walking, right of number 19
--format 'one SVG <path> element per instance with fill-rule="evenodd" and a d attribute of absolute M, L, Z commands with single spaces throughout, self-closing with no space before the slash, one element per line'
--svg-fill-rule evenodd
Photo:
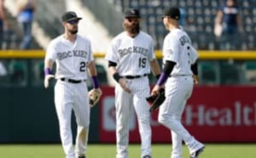
<path fill-rule="evenodd" d="M 166 99 L 159 108 L 158 121 L 172 133 L 172 158 L 181 158 L 182 140 L 189 148 L 190 157 L 198 157 L 204 145 L 198 142 L 181 124 L 181 115 L 193 90 L 193 81 L 198 83 L 197 52 L 191 45 L 188 34 L 179 28 L 179 8 L 169 8 L 163 16 L 165 28 L 170 31 L 163 44 L 163 72 L 151 95 L 157 95 L 165 83 Z M 194 76 L 194 80 L 193 80 Z"/>

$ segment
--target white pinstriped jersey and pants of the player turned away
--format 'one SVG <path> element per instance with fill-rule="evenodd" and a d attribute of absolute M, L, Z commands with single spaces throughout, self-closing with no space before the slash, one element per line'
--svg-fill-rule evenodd
<path fill-rule="evenodd" d="M 159 108 L 158 121 L 172 133 L 172 158 L 181 158 L 182 139 L 188 145 L 190 154 L 203 146 L 181 124 L 181 116 L 193 90 L 193 77 L 190 65 L 195 63 L 197 52 L 191 46 L 187 33 L 181 29 L 172 30 L 164 40 L 164 63 L 176 63 L 165 84 L 166 100 Z"/>

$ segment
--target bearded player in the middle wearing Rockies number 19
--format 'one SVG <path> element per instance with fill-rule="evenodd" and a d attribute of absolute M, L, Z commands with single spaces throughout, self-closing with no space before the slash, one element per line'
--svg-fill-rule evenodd
<path fill-rule="evenodd" d="M 140 31 L 139 10 L 129 9 L 123 21 L 124 32 L 112 41 L 106 54 L 109 73 L 115 86 L 117 158 L 127 158 L 129 117 L 133 108 L 137 114 L 141 138 L 141 157 L 151 157 L 149 105 L 150 67 L 157 76 L 161 71 L 154 54 L 153 39 Z"/>

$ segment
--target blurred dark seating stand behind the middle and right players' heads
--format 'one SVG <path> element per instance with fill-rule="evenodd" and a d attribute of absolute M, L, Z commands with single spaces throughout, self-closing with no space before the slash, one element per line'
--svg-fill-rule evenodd
<path fill-rule="evenodd" d="M 253 0 L 112 0 L 124 11 L 140 8 L 144 21 L 143 30 L 155 39 L 161 49 L 166 30 L 161 15 L 166 6 L 179 7 L 180 24 L 189 33 L 194 46 L 204 50 L 254 50 L 256 1 Z M 216 20 L 215 20 L 216 19 Z M 215 24 L 221 26 L 221 37 L 214 34 Z M 239 38 L 237 38 L 239 37 Z M 238 39 L 238 40 L 235 40 Z M 234 47 L 236 46 L 236 47 Z"/>

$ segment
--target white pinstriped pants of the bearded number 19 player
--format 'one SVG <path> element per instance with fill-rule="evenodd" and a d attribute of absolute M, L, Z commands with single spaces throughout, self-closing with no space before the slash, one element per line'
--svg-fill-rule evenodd
<path fill-rule="evenodd" d="M 148 77 L 135 78 L 132 80 L 127 79 L 127 81 L 132 91 L 131 93 L 125 92 L 119 84 L 115 87 L 116 157 L 128 157 L 129 118 L 133 109 L 135 109 L 139 122 L 141 157 L 151 155 L 150 113 L 149 105 L 146 101 L 150 92 Z"/>

